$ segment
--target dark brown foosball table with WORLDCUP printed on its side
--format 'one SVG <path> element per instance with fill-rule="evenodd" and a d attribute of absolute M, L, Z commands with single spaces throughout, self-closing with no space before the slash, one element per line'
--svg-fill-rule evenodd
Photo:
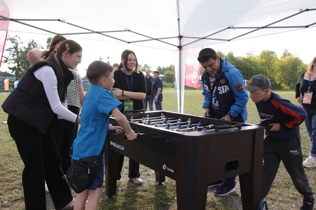
<path fill-rule="evenodd" d="M 123 134 L 109 132 L 105 148 L 108 197 L 115 196 L 123 154 L 154 170 L 157 182 L 163 183 L 166 176 L 175 180 L 178 209 L 205 209 L 208 184 L 236 175 L 243 209 L 257 209 L 264 127 L 165 111 L 125 116 L 138 137 L 128 141 Z M 110 123 L 118 125 L 112 117 Z"/>

